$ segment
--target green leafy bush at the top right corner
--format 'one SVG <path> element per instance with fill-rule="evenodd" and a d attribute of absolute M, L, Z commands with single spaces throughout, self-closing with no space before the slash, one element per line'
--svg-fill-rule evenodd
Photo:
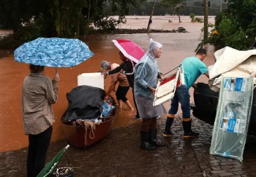
<path fill-rule="evenodd" d="M 210 43 L 215 45 L 216 50 L 225 46 L 247 50 L 256 37 L 255 15 L 255 1 L 230 0 L 228 11 L 218 14 L 215 18 L 214 30 L 217 33 L 210 33 L 207 40 L 198 44 L 198 48 Z"/>

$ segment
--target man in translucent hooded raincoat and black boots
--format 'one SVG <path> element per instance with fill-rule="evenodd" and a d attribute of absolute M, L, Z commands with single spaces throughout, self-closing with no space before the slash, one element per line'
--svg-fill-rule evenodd
<path fill-rule="evenodd" d="M 156 118 L 166 113 L 164 105 L 153 106 L 158 79 L 162 78 L 156 58 L 163 52 L 159 42 L 150 39 L 149 50 L 135 66 L 134 98 L 142 118 L 141 148 L 153 150 L 164 144 L 156 139 Z"/>

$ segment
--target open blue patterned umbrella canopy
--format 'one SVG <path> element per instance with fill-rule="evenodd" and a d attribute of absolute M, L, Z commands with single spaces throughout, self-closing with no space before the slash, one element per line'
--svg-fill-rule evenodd
<path fill-rule="evenodd" d="M 74 67 L 94 54 L 78 39 L 37 38 L 14 51 L 14 60 L 45 67 Z"/>

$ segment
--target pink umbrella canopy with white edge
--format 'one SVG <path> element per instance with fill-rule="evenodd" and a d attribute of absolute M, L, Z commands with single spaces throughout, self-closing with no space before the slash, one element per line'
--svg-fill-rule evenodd
<path fill-rule="evenodd" d="M 114 42 L 114 45 L 122 52 L 124 57 L 136 63 L 139 62 L 139 59 L 145 54 L 142 48 L 131 40 L 112 40 L 112 42 Z"/>

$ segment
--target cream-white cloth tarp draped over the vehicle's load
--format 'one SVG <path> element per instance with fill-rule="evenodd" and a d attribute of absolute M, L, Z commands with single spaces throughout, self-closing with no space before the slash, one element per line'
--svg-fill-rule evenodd
<path fill-rule="evenodd" d="M 240 51 L 224 47 L 214 53 L 215 64 L 208 67 L 210 89 L 220 91 L 223 77 L 252 77 L 256 84 L 256 50 Z"/>

